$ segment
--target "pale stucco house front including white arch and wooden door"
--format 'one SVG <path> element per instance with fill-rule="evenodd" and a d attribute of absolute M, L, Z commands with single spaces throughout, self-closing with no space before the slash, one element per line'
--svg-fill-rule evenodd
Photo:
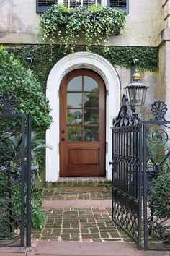
<path fill-rule="evenodd" d="M 0 44 L 15 48 L 42 46 L 40 15 L 53 3 L 56 1 L 1 0 Z M 58 1 L 60 3 L 63 1 Z M 76 7 L 84 2 L 64 1 L 64 4 Z M 97 4 L 109 4 L 126 12 L 125 30 L 110 38 L 109 46 L 122 47 L 122 51 L 125 47 L 137 46 L 158 49 L 158 72 L 147 69 L 141 72 L 143 81 L 149 85 L 146 104 L 141 110 L 143 118 L 147 118 L 151 103 L 156 99 L 170 106 L 170 0 L 138 3 L 135 0 L 101 0 Z M 139 56 L 131 57 L 140 61 Z M 149 54 L 145 57 L 151 58 Z M 47 182 L 55 182 L 59 176 L 106 176 L 111 179 L 110 127 L 131 74 L 130 69 L 121 65 L 115 67 L 107 57 L 96 53 L 76 51 L 56 60 L 44 81 L 53 116 L 53 124 L 46 134 L 47 143 L 53 147 L 46 152 Z M 167 114 L 166 119 L 169 118 Z"/>

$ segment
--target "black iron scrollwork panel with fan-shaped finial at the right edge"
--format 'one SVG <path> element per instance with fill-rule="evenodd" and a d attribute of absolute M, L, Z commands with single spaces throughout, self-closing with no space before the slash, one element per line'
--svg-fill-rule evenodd
<path fill-rule="evenodd" d="M 163 114 L 154 112 L 157 122 L 147 125 L 148 235 L 162 243 L 158 249 L 170 249 L 170 127 L 161 124 L 167 111 L 165 105 L 162 109 Z"/>

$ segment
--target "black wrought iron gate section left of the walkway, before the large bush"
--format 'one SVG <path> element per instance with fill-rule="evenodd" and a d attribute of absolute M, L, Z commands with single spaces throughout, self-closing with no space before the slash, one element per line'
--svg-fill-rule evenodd
<path fill-rule="evenodd" d="M 16 101 L 0 95 L 0 247 L 31 244 L 31 116 L 14 113 Z"/>

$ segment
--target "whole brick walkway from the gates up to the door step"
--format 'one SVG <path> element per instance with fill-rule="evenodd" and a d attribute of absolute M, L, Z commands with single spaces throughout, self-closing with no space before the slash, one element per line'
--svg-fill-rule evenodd
<path fill-rule="evenodd" d="M 113 223 L 111 208 L 101 205 L 102 202 L 109 202 L 111 205 L 111 183 L 106 182 L 103 178 L 87 179 L 63 178 L 61 182 L 53 184 L 51 189 L 44 189 L 45 202 L 50 202 L 53 208 L 45 207 L 45 227 L 42 231 L 33 230 L 32 239 L 133 242 Z M 81 202 L 81 207 L 68 207 L 68 201 L 70 205 L 75 204 L 75 201 Z M 88 204 L 89 206 L 87 206 Z M 91 207 L 90 204 L 95 206 Z"/>

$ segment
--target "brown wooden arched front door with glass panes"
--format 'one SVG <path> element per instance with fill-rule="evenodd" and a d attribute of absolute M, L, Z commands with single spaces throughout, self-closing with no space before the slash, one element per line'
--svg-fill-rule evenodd
<path fill-rule="evenodd" d="M 105 175 L 105 86 L 76 69 L 60 88 L 60 176 Z"/>

